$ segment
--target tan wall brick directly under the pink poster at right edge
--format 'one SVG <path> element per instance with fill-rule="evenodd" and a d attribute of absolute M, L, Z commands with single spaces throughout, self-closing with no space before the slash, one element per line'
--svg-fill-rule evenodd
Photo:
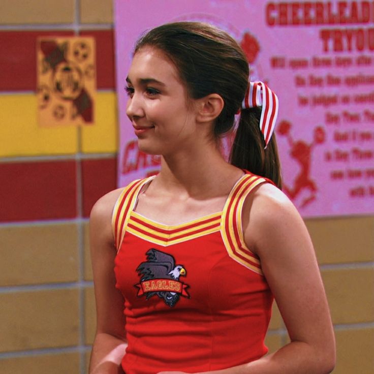
<path fill-rule="evenodd" d="M 374 261 L 374 216 L 306 220 L 320 264 Z"/>

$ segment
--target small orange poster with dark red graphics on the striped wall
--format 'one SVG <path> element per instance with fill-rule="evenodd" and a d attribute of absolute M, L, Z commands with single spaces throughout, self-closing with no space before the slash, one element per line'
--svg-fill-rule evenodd
<path fill-rule="evenodd" d="M 91 37 L 40 38 L 37 59 L 39 124 L 93 123 L 95 40 Z"/>

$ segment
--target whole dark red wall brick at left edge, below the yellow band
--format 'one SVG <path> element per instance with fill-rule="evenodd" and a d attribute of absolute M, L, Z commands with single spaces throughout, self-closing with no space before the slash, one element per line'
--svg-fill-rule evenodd
<path fill-rule="evenodd" d="M 75 161 L 0 164 L 0 222 L 77 215 Z"/>

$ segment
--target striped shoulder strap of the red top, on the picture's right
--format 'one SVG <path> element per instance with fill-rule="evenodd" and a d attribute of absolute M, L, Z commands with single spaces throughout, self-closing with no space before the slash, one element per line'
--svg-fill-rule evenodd
<path fill-rule="evenodd" d="M 229 256 L 262 275 L 259 258 L 245 245 L 241 223 L 241 212 L 245 198 L 261 183 L 269 182 L 266 178 L 246 172 L 239 180 L 224 207 L 221 234 Z"/>

